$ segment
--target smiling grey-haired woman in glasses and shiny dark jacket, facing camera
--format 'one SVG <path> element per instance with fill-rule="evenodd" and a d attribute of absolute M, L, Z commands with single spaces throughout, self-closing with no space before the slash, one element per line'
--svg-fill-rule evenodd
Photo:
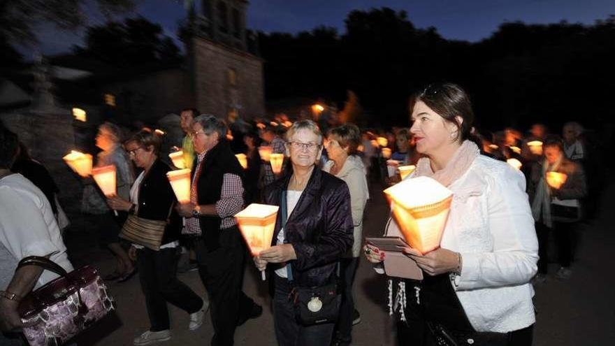
<path fill-rule="evenodd" d="M 329 345 L 333 323 L 303 326 L 289 301 L 293 287 L 322 287 L 337 280 L 336 264 L 352 246 L 350 194 L 343 180 L 316 166 L 322 134 L 310 120 L 287 131 L 287 155 L 292 171 L 266 187 L 265 203 L 278 212 L 273 246 L 254 262 L 263 271 L 274 264 L 273 319 L 277 342 L 287 345 Z M 285 203 L 282 206 L 282 203 Z"/>

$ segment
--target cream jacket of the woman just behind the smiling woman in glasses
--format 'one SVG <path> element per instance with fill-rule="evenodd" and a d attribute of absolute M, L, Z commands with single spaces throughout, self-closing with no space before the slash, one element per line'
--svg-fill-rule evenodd
<path fill-rule="evenodd" d="M 324 164 L 322 170 L 329 173 L 332 166 L 333 160 L 329 160 Z M 356 155 L 350 155 L 335 176 L 344 180 L 350 191 L 350 208 L 352 210 L 352 222 L 354 223 L 352 257 L 359 257 L 363 241 L 363 211 L 370 198 L 363 161 Z"/>

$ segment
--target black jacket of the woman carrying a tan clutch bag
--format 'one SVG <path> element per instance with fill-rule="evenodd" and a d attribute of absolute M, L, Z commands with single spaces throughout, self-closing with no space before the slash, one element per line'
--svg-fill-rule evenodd
<path fill-rule="evenodd" d="M 171 243 L 180 238 L 182 230 L 182 219 L 173 206 L 177 198 L 173 193 L 171 183 L 166 178 L 166 173 L 171 171 L 171 167 L 160 159 L 154 161 L 150 171 L 145 174 L 139 187 L 139 206 L 136 215 L 144 219 L 166 220 L 169 223 L 164 229 L 164 236 L 161 245 Z M 171 217 L 169 217 L 171 210 Z"/>

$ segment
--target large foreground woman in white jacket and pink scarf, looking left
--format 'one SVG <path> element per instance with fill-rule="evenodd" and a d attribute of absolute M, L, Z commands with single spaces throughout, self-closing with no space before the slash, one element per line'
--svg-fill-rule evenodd
<path fill-rule="evenodd" d="M 469 140 L 472 106 L 461 87 L 431 85 L 410 109 L 417 150 L 426 155 L 411 177 L 431 177 L 454 198 L 440 247 L 404 249 L 424 280 L 401 280 L 391 292 L 400 345 L 531 345 L 538 246 L 523 175 Z M 386 233 L 400 235 L 394 220 Z M 386 266 L 387 252 L 365 251 Z"/>

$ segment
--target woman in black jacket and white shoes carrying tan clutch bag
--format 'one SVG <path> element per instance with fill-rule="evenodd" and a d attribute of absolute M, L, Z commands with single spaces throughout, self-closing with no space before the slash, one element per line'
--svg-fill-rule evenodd
<path fill-rule="evenodd" d="M 137 261 L 151 324 L 150 329 L 135 338 L 133 343 L 148 345 L 171 338 L 167 302 L 190 314 L 188 328 L 194 331 L 203 324 L 203 300 L 175 277 L 182 221 L 173 210 L 177 199 L 166 178 L 171 168 L 159 159 L 161 138 L 149 129 L 143 129 L 133 134 L 125 145 L 135 166 L 143 171 L 130 190 L 130 200 L 115 196 L 107 203 L 114 210 L 131 212 L 143 219 L 167 221 L 160 250 L 136 244 L 129 250 L 131 259 Z"/>

